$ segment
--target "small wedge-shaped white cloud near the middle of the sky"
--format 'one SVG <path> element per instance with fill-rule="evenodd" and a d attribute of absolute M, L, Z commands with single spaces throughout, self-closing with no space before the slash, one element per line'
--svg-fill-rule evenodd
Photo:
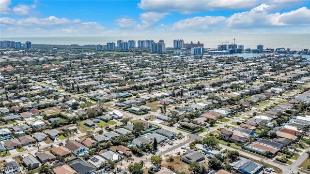
<path fill-rule="evenodd" d="M 150 28 L 155 27 L 159 20 L 164 18 L 169 13 L 147 12 L 140 14 L 140 20 L 142 25 L 139 27 Z"/>

